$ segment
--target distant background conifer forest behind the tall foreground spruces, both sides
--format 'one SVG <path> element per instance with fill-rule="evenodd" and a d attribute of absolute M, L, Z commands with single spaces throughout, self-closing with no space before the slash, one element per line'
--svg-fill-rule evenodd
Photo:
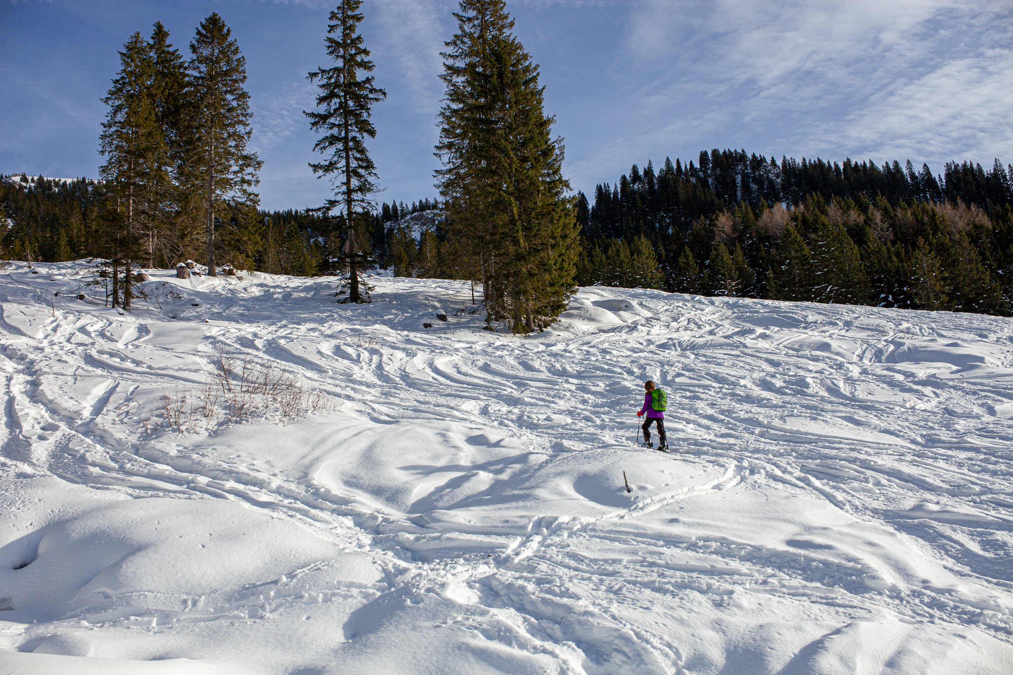
<path fill-rule="evenodd" d="M 599 185 L 593 204 L 577 193 L 579 285 L 1010 313 L 1013 167 L 952 162 L 933 175 L 910 162 L 701 155 L 706 169 L 667 160 L 655 174 L 649 161 L 634 165 L 614 186 Z M 0 209 L 14 224 L 0 239 L 5 256 L 103 255 L 100 181 L 7 178 Z M 397 276 L 460 278 L 442 207 L 384 203 L 367 229 L 371 258 Z M 426 212 L 438 218 L 408 227 L 409 216 Z M 219 223 L 216 245 L 241 269 L 317 276 L 333 273 L 342 242 L 332 221 L 305 210 L 237 210 Z"/>

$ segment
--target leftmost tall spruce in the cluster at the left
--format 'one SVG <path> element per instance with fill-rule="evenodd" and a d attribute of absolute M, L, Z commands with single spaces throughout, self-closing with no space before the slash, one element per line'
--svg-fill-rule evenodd
<path fill-rule="evenodd" d="M 118 242 L 110 247 L 113 275 L 118 277 L 124 266 L 129 279 L 131 260 L 143 254 L 135 245 L 139 232 L 154 229 L 159 195 L 168 183 L 168 157 L 152 89 L 155 63 L 151 46 L 140 32 L 124 45 L 120 65 L 120 73 L 102 99 L 109 110 L 100 136 L 100 152 L 107 157 L 100 172 L 106 180 L 111 208 L 121 214 L 110 220 L 115 223 Z M 115 286 L 119 291 L 119 284 Z M 119 303 L 119 292 L 114 292 L 112 306 Z M 131 305 L 129 282 L 124 287 L 123 305 Z"/>

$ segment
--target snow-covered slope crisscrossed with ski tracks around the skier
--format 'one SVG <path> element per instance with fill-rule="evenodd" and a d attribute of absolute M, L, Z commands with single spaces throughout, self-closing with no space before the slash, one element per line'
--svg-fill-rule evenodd
<path fill-rule="evenodd" d="M 0 673 L 1013 672 L 1010 319 L 87 273 L 0 274 Z"/>

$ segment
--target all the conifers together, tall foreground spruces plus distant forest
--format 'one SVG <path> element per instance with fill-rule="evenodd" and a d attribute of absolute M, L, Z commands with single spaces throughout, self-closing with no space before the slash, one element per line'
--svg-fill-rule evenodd
<path fill-rule="evenodd" d="M 245 61 L 213 13 L 185 49 L 156 23 L 130 35 L 103 98 L 100 175 L 0 176 L 0 254 L 95 258 L 113 306 L 136 270 L 197 260 L 206 274 L 336 275 L 339 301 L 369 302 L 365 271 L 470 281 L 487 326 L 545 328 L 577 286 L 1009 315 L 1013 165 L 941 172 L 903 158 L 765 157 L 701 151 L 573 192 L 563 139 L 544 109 L 539 66 L 503 0 L 461 0 L 446 44 L 435 194 L 378 203 L 367 141 L 386 95 L 359 32 L 362 0 L 340 0 L 320 35 L 332 63 L 307 124 L 311 164 L 333 185 L 321 205 L 260 209 L 261 166 Z M 97 131 L 97 130 L 96 130 Z M 635 159 L 635 158 L 631 158 Z M 642 159 L 640 160 L 642 161 Z M 607 176 L 603 176 L 607 177 Z M 611 179 L 611 177 L 610 177 Z"/>

